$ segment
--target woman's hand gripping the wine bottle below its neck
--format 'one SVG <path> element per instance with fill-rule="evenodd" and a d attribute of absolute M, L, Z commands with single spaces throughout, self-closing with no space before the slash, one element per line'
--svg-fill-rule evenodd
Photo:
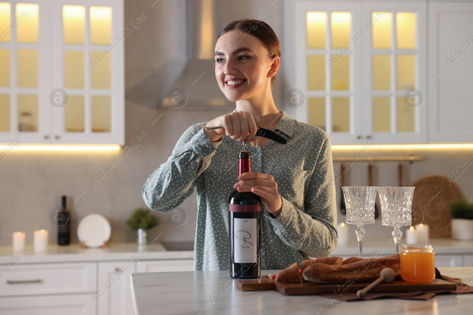
<path fill-rule="evenodd" d="M 252 192 L 261 197 L 261 202 L 266 206 L 266 210 L 277 217 L 282 210 L 282 199 L 278 191 L 278 183 L 271 175 L 246 172 L 238 176 L 240 180 L 235 185 L 239 192 Z"/>

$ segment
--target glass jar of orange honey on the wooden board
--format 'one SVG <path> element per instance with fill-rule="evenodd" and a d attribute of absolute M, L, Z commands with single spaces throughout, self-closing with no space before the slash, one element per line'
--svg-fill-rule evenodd
<path fill-rule="evenodd" d="M 426 283 L 435 278 L 435 258 L 432 245 L 403 244 L 400 263 L 404 281 Z"/>

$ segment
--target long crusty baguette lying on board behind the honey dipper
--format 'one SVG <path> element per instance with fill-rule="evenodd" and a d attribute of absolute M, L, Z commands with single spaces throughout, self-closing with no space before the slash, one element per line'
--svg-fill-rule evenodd
<path fill-rule="evenodd" d="M 302 272 L 302 277 L 306 281 L 322 283 L 369 282 L 376 280 L 383 268 L 393 269 L 396 277 L 400 277 L 399 255 L 360 259 L 341 265 L 313 263 Z"/>

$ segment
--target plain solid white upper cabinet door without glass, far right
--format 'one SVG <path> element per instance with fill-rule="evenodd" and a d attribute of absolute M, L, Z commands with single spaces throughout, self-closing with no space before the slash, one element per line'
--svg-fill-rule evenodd
<path fill-rule="evenodd" d="M 429 142 L 472 142 L 473 2 L 429 2 Z"/>

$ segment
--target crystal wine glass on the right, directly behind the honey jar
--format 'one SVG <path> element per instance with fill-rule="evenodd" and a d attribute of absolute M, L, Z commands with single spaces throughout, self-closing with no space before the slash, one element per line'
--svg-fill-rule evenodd
<path fill-rule="evenodd" d="M 393 238 L 396 255 L 400 253 L 403 232 L 400 228 L 412 224 L 412 196 L 415 187 L 378 187 L 381 200 L 382 224 L 394 227 Z"/>

